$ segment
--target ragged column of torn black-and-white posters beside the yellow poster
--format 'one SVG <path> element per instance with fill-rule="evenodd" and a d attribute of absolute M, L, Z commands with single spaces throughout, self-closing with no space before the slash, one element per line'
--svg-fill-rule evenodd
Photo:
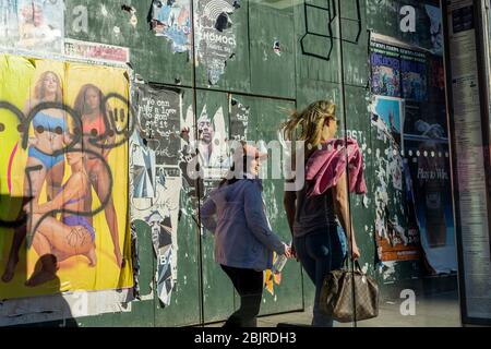
<path fill-rule="evenodd" d="M 131 220 L 145 221 L 157 258 L 157 294 L 170 304 L 177 280 L 177 226 L 182 178 L 178 167 L 182 95 L 176 89 L 135 88 L 137 127 L 130 139 Z"/>

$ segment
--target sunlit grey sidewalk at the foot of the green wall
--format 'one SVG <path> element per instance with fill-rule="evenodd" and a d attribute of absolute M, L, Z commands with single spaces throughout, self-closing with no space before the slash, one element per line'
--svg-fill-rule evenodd
<path fill-rule="evenodd" d="M 416 314 L 403 316 L 400 303 L 404 300 L 383 302 L 379 316 L 358 322 L 358 327 L 460 327 L 460 311 L 456 292 L 427 296 L 416 302 Z M 270 315 L 258 318 L 259 327 L 276 327 L 278 324 L 309 326 L 312 311 Z M 205 325 L 219 327 L 223 323 Z M 354 324 L 335 323 L 334 327 L 352 327 Z"/>

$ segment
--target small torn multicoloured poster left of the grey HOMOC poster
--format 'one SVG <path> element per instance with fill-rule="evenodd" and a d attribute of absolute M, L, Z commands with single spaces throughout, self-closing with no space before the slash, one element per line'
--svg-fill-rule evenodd
<path fill-rule="evenodd" d="M 190 0 L 153 0 L 151 26 L 156 36 L 172 43 L 173 52 L 191 48 Z"/>

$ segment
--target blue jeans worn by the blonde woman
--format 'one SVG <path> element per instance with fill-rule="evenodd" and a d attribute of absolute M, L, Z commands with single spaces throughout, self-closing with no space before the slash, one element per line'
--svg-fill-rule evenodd
<path fill-rule="evenodd" d="M 319 299 L 324 277 L 343 265 L 345 249 L 339 233 L 343 229 L 328 226 L 294 240 L 297 256 L 315 285 L 312 326 L 333 327 L 333 318 L 320 311 Z"/>

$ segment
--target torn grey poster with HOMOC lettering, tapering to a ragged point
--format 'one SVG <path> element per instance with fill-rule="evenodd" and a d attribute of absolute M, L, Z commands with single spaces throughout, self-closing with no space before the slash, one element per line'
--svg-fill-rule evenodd
<path fill-rule="evenodd" d="M 197 61 L 206 67 L 208 82 L 216 85 L 237 47 L 231 16 L 236 0 L 194 0 Z"/>

